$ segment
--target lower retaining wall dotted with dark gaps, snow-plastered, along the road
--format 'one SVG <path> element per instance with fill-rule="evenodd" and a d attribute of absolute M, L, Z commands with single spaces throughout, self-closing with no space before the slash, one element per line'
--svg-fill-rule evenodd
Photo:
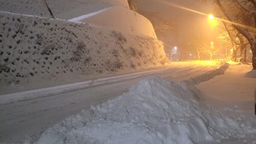
<path fill-rule="evenodd" d="M 152 37 L 0 13 L 0 86 L 147 68 L 165 60 L 163 44 Z"/>

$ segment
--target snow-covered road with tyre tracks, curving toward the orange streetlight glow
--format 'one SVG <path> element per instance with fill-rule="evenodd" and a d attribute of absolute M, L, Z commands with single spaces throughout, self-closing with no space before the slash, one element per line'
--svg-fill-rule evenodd
<path fill-rule="evenodd" d="M 161 69 L 59 86 L 57 91 L 47 88 L 49 91 L 40 89 L 0 95 L 0 141 L 17 141 L 28 134 L 36 137 L 35 135 L 40 135 L 47 127 L 75 115 L 82 109 L 102 104 L 127 92 L 130 86 L 142 79 L 159 75 L 174 81 L 183 81 L 199 75 L 210 75 L 220 67 L 208 64 L 177 62 Z M 218 72 L 214 75 L 218 75 Z"/>

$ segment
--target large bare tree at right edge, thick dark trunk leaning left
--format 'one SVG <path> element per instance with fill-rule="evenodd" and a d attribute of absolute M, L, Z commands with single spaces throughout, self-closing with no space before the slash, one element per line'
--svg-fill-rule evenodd
<path fill-rule="evenodd" d="M 256 69 L 256 0 L 214 0 L 232 26 L 244 36 L 253 53 L 253 69 Z M 235 8 L 232 11 L 227 8 Z M 240 42 L 244 40 L 240 39 Z M 245 44 L 243 44 L 244 46 Z M 242 45 L 241 45 L 242 47 Z"/>

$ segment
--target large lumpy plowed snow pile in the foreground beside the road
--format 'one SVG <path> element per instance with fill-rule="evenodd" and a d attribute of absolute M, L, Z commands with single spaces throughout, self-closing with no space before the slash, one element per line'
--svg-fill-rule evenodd
<path fill-rule="evenodd" d="M 201 104 L 185 83 L 148 78 L 45 131 L 37 144 L 192 144 L 253 132 L 242 116 Z M 241 134 L 241 135 L 240 135 Z"/>

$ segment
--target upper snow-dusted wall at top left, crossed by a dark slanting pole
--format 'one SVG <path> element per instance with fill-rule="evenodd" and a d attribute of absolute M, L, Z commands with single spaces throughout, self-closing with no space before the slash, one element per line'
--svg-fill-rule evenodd
<path fill-rule="evenodd" d="M 129 9 L 127 0 L 46 0 L 59 19 L 70 19 L 113 5 Z M 0 11 L 51 17 L 43 0 L 1 0 Z"/>

